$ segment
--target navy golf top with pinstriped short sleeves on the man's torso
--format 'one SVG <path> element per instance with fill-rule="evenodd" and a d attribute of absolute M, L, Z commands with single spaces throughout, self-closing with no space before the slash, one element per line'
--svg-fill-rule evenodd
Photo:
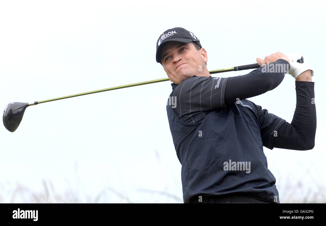
<path fill-rule="evenodd" d="M 247 99 L 225 105 L 228 79 L 194 75 L 171 84 L 167 113 L 182 165 L 184 202 L 235 194 L 279 203 L 263 146 L 273 149 L 273 132 L 285 120 Z M 250 170 L 225 170 L 226 162 L 250 162 Z"/>

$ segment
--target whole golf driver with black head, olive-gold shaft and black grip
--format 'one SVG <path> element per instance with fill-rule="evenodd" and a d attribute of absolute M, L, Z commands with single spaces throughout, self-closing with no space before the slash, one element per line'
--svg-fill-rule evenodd
<path fill-rule="evenodd" d="M 303 63 L 303 57 L 300 60 L 298 60 L 297 62 Z M 256 69 L 259 67 L 260 67 L 259 64 L 248 64 L 248 65 L 242 65 L 242 66 L 237 66 L 237 67 L 228 68 L 228 69 L 219 69 L 219 70 L 215 70 L 215 71 L 209 71 L 209 73 L 215 74 L 215 73 L 222 73 L 222 72 L 242 71 L 242 70 L 247 70 L 247 69 Z M 74 95 L 70 95 L 70 96 L 58 97 L 58 98 L 44 100 L 44 101 L 36 101 L 36 102 L 32 102 L 32 103 L 12 102 L 5 107 L 5 110 L 3 111 L 2 121 L 8 131 L 15 132 L 16 129 L 18 128 L 19 124 L 21 123 L 24 112 L 28 106 L 42 104 L 42 103 L 46 103 L 46 102 L 50 102 L 50 101 L 62 100 L 62 99 L 71 98 L 71 97 L 92 94 L 92 93 L 109 91 L 109 90 L 113 90 L 113 89 L 122 89 L 122 88 L 127 88 L 127 87 L 140 86 L 140 85 L 151 84 L 151 83 L 156 83 L 156 82 L 164 82 L 164 81 L 169 81 L 169 80 L 170 80 L 169 78 L 161 78 L 161 79 L 156 79 L 156 80 L 151 80 L 151 81 L 146 81 L 146 82 L 139 82 L 139 83 L 133 83 L 133 84 L 123 85 L 123 86 L 111 87 L 111 88 L 107 88 L 107 89 L 99 89 L 99 90 L 90 91 L 90 92 L 78 93 L 78 94 L 74 94 Z"/>

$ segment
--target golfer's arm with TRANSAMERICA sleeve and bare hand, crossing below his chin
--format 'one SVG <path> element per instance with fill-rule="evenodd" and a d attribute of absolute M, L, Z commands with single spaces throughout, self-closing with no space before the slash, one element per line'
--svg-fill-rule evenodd
<path fill-rule="evenodd" d="M 185 79 L 172 93 L 176 98 L 174 112 L 185 123 L 197 123 L 208 112 L 226 107 L 237 98 L 243 100 L 275 89 L 290 68 L 288 57 L 281 52 L 266 56 L 264 60 L 257 58 L 257 62 L 267 65 L 235 77 L 194 76 Z"/>

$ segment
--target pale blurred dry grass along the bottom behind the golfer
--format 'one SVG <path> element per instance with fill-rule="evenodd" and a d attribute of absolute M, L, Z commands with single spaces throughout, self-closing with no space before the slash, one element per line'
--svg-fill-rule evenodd
<path fill-rule="evenodd" d="M 159 157 L 157 160 L 160 161 Z M 78 176 L 75 162 L 76 177 Z M 315 179 L 308 169 L 297 172 L 297 178 L 288 175 L 278 178 L 276 185 L 281 203 L 326 203 L 326 189 L 322 181 Z M 175 178 L 171 175 L 172 179 Z M 304 183 L 303 183 L 304 182 Z M 137 197 L 124 195 L 122 192 L 107 186 L 97 194 L 82 194 L 79 189 L 73 190 L 69 186 L 64 192 L 57 192 L 51 180 L 42 180 L 43 189 L 33 189 L 21 185 L 0 182 L 0 203 L 183 203 L 182 194 L 177 196 L 167 192 L 168 187 L 161 191 L 137 189 Z M 138 200 L 137 200 L 138 199 Z"/>

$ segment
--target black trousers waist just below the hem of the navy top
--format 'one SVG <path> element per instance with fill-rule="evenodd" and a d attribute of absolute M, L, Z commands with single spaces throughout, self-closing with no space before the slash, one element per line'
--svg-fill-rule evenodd
<path fill-rule="evenodd" d="M 244 197 L 244 196 L 209 196 L 202 197 L 201 202 L 199 202 L 198 196 L 191 199 L 191 203 L 271 203 L 265 202 L 259 199 Z"/>

